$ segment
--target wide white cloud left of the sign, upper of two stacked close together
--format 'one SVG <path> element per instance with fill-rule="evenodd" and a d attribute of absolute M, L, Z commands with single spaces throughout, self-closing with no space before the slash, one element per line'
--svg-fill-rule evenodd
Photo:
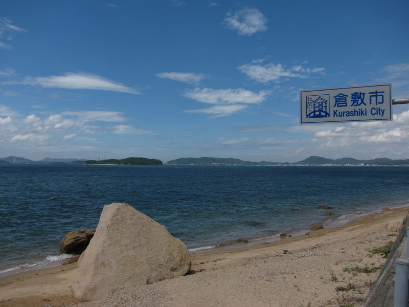
<path fill-rule="evenodd" d="M 255 93 L 244 89 L 199 89 L 187 90 L 183 96 L 211 104 L 260 103 L 265 100 L 268 91 Z"/>

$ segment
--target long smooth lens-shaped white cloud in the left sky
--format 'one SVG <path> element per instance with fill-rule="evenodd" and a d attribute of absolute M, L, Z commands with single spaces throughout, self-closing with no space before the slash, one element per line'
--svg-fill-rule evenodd
<path fill-rule="evenodd" d="M 27 77 L 23 84 L 59 89 L 100 90 L 140 94 L 137 90 L 104 77 L 86 73 L 65 73 L 62 76 Z"/>

